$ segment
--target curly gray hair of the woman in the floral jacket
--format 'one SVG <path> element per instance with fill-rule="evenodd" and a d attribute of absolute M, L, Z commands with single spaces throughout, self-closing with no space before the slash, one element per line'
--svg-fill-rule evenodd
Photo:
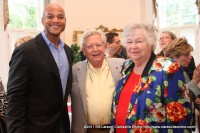
<path fill-rule="evenodd" d="M 147 39 L 148 44 L 152 46 L 152 51 L 154 51 L 156 48 L 156 41 L 157 41 L 157 36 L 156 36 L 157 29 L 155 28 L 155 26 L 145 22 L 128 24 L 124 28 L 123 32 L 124 39 L 126 39 L 129 36 L 130 32 L 134 32 L 136 29 L 144 29 L 146 31 L 145 37 Z"/>

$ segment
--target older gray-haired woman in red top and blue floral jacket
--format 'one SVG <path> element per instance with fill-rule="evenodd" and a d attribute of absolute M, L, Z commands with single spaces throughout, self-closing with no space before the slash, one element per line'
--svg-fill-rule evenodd
<path fill-rule="evenodd" d="M 127 25 L 124 62 L 114 93 L 111 124 L 116 133 L 191 132 L 192 113 L 183 68 L 156 57 L 156 29 L 147 23 Z"/>

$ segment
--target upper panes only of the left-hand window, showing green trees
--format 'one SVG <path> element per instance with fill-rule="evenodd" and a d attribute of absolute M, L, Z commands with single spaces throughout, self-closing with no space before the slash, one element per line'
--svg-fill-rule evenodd
<path fill-rule="evenodd" d="M 8 0 L 10 24 L 14 29 L 39 29 L 41 11 L 44 1 L 41 0 Z"/>

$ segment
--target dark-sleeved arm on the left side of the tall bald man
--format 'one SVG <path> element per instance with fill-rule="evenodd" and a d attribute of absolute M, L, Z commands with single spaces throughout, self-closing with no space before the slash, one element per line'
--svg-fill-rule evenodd
<path fill-rule="evenodd" d="M 29 86 L 29 68 L 27 56 L 21 49 L 15 49 L 11 61 L 8 78 L 8 133 L 26 132 L 26 102 Z"/>

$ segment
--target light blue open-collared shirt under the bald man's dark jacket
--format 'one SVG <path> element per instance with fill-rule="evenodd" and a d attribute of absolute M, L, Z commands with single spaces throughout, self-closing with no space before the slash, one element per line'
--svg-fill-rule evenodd
<path fill-rule="evenodd" d="M 67 58 L 67 54 L 64 49 L 64 43 L 62 40 L 59 40 L 59 46 L 58 48 L 55 47 L 53 43 L 50 42 L 50 40 L 47 38 L 44 31 L 42 32 L 42 37 L 44 38 L 45 42 L 47 43 L 51 54 L 53 55 L 53 58 L 57 64 L 59 74 L 60 74 L 60 80 L 62 83 L 62 90 L 63 90 L 63 97 L 65 96 L 66 86 L 67 86 L 67 80 L 69 75 L 69 61 Z"/>

